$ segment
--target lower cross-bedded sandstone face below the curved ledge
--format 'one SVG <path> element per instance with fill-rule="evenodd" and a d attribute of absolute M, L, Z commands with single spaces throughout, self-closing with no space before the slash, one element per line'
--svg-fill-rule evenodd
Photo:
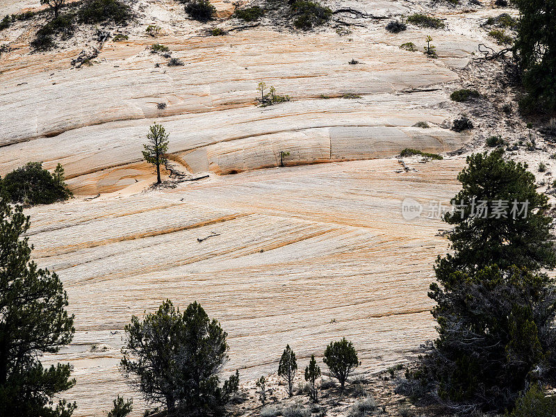
<path fill-rule="evenodd" d="M 117 370 L 122 329 L 167 297 L 221 320 L 225 371 L 243 381 L 274 371 L 286 343 L 306 361 L 346 336 L 367 370 L 414 357 L 434 332 L 425 290 L 446 247 L 440 220 L 404 220 L 401 204 L 447 204 L 463 161 L 409 164 L 274 168 L 29 209 L 34 256 L 63 277 L 76 315 L 72 344 L 47 358 L 74 364 L 76 415 L 101 415 L 115 393 L 140 404 Z"/>

